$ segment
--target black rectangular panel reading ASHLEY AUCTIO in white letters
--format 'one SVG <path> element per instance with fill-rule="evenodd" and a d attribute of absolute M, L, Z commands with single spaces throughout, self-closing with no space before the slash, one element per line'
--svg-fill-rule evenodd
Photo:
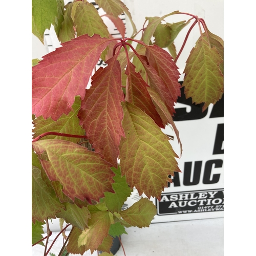
<path fill-rule="evenodd" d="M 224 210 L 224 189 L 162 193 L 157 215 L 194 214 Z"/>

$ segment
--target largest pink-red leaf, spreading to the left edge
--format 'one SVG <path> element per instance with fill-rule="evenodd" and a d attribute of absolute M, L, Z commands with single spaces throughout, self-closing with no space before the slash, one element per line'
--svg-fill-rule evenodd
<path fill-rule="evenodd" d="M 32 114 L 55 121 L 68 115 L 75 96 L 84 98 L 92 71 L 110 42 L 96 34 L 82 35 L 45 55 L 32 68 Z"/>

